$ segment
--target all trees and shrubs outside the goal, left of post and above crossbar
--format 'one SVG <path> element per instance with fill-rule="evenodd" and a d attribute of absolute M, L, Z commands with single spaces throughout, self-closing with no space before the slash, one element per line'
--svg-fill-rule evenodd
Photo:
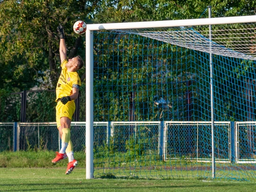
<path fill-rule="evenodd" d="M 202 18 L 208 17 L 204 12 L 208 5 L 212 17 L 255 15 L 256 11 L 255 0 L 1 0 L 0 122 L 20 119 L 20 95 L 10 93 L 55 89 L 60 73 L 59 23 L 65 28 L 68 57 L 85 59 L 85 37 L 73 33 L 76 20 L 91 24 Z M 85 68 L 79 74 L 84 82 Z M 84 92 L 83 86 L 81 120 L 85 119 Z M 47 92 L 29 101 L 27 121 L 54 121 L 53 98 Z"/>

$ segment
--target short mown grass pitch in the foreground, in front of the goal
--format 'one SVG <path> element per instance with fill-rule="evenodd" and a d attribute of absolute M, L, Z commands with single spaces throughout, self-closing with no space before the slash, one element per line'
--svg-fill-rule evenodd
<path fill-rule="evenodd" d="M 253 192 L 254 182 L 85 179 L 85 168 L 0 168 L 0 192 Z"/>

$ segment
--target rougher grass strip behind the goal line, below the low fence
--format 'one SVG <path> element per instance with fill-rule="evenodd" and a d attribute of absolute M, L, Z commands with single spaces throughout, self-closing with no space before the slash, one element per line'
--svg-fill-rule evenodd
<path fill-rule="evenodd" d="M 103 155 L 104 156 L 104 155 Z M 64 168 L 68 160 L 57 164 L 51 161 L 54 151 L 20 151 L 1 152 L 0 167 L 5 168 Z M 76 152 L 75 158 L 79 168 L 85 168 L 84 152 Z M 99 163 L 100 162 L 100 163 Z M 102 163 L 104 162 L 104 163 Z M 94 177 L 96 178 L 128 178 L 128 179 L 185 179 L 202 180 L 211 178 L 210 163 L 173 160 L 140 160 L 125 161 L 116 155 L 111 158 L 101 157 L 94 161 Z M 216 178 L 219 180 L 238 180 L 256 182 L 256 167 L 254 164 L 216 164 Z"/>

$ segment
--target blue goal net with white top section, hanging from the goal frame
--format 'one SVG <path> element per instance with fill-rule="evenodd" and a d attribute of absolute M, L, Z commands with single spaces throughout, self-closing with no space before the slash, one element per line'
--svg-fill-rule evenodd
<path fill-rule="evenodd" d="M 256 16 L 198 20 L 88 25 L 87 178 L 256 178 Z"/>

